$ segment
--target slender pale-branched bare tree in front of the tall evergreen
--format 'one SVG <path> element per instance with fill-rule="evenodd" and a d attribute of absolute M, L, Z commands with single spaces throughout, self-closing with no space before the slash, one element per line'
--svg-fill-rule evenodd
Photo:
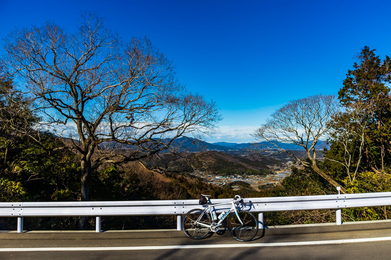
<path fill-rule="evenodd" d="M 327 156 L 325 159 L 342 164 L 346 168 L 350 183 L 356 179 L 363 156 L 367 127 L 374 111 L 375 106 L 371 102 L 356 101 L 334 118 L 330 136 L 343 149 L 343 156 L 340 160 L 330 159 Z M 359 143 L 358 154 L 355 155 L 357 149 L 352 146 L 357 145 L 357 142 Z M 355 168 L 352 169 L 354 164 Z"/>

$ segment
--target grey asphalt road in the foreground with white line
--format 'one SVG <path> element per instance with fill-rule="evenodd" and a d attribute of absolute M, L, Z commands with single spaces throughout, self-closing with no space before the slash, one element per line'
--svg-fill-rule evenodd
<path fill-rule="evenodd" d="M 0 236 L 0 259 L 391 259 L 389 227 L 325 231 L 327 228 L 317 233 L 266 230 L 250 242 L 236 241 L 227 233 L 192 240 L 176 231 L 163 233 L 165 238 L 142 232 L 133 233 L 132 238 L 120 232 L 102 233 L 101 237 L 94 233 L 18 234 L 30 235 L 23 239 L 7 234 Z"/>

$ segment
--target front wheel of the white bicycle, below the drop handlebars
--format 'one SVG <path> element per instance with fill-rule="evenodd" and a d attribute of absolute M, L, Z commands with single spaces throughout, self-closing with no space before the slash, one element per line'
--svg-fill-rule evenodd
<path fill-rule="evenodd" d="M 239 218 L 242 220 L 242 224 L 235 212 L 228 218 L 227 228 L 230 235 L 242 242 L 250 241 L 258 232 L 258 220 L 251 212 L 247 210 L 238 210 Z"/>

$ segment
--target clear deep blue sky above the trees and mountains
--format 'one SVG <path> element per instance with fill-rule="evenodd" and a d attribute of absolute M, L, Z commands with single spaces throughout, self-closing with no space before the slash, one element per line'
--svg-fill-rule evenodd
<path fill-rule="evenodd" d="M 124 40 L 146 35 L 188 90 L 221 108 L 211 142 L 253 141 L 249 133 L 289 100 L 336 94 L 365 45 L 391 55 L 390 1 L 0 0 L 0 8 L 0 38 L 45 19 L 73 32 L 80 11 L 96 11 Z"/>

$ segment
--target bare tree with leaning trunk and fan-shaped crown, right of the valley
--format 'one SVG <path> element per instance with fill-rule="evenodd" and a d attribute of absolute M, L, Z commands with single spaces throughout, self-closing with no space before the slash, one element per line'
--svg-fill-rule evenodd
<path fill-rule="evenodd" d="M 285 152 L 296 159 L 298 164 L 311 167 L 317 174 L 326 179 L 334 187 L 341 187 L 317 166 L 317 150 L 315 145 L 319 138 L 325 138 L 330 130 L 332 119 L 339 111 L 335 95 L 317 94 L 298 100 L 276 110 L 266 119 L 266 123 L 256 129 L 253 136 L 261 143 L 256 144 L 258 152 L 269 151 L 271 154 Z M 307 156 L 299 158 L 281 143 L 291 143 L 303 147 Z"/>

